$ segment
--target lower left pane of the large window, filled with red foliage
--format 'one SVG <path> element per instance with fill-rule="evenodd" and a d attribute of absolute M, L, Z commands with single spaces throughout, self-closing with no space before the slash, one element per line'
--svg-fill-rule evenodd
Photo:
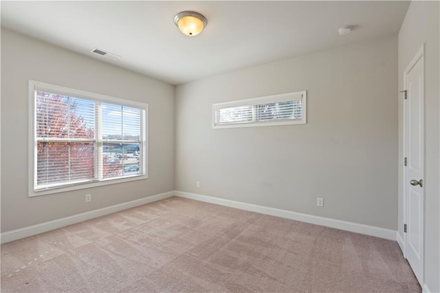
<path fill-rule="evenodd" d="M 94 142 L 38 142 L 37 186 L 94 179 Z"/>

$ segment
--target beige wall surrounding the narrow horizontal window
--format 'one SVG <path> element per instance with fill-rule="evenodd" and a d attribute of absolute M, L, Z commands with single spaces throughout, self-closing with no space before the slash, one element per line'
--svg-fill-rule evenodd
<path fill-rule="evenodd" d="M 396 230 L 396 72 L 393 36 L 177 86 L 175 189 Z M 211 129 L 214 102 L 301 90 L 307 124 Z"/>

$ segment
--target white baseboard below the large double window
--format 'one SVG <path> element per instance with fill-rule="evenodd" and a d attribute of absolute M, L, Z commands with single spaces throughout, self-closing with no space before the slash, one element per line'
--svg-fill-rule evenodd
<path fill-rule="evenodd" d="M 114 206 L 107 206 L 106 208 L 99 208 L 98 210 L 91 210 L 86 213 L 81 213 L 78 215 L 73 215 L 70 217 L 65 217 L 62 219 L 56 219 L 54 221 L 47 221 L 45 223 L 36 224 L 33 226 L 28 226 L 25 228 L 20 228 L 17 230 L 12 230 L 8 232 L 3 232 L 0 235 L 1 243 L 7 243 L 10 241 L 22 239 L 25 237 L 30 237 L 50 230 L 62 228 L 72 224 L 80 223 L 81 221 L 87 221 L 89 219 L 94 219 L 96 217 L 102 217 L 104 215 L 109 215 L 111 213 L 116 213 L 121 210 L 126 210 L 127 208 L 134 208 L 135 206 L 142 206 L 142 204 L 149 204 L 151 202 L 156 202 L 160 199 L 166 199 L 174 195 L 173 191 L 168 193 L 161 193 L 158 195 L 153 195 L 150 197 L 144 197 L 141 199 L 135 199 L 131 202 L 124 202 L 122 204 L 116 204 Z"/>

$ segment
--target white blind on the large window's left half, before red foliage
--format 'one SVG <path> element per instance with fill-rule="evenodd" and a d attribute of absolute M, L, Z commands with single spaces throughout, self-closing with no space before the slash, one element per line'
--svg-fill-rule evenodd
<path fill-rule="evenodd" d="M 39 90 L 35 97 L 36 187 L 94 180 L 94 102 Z"/>

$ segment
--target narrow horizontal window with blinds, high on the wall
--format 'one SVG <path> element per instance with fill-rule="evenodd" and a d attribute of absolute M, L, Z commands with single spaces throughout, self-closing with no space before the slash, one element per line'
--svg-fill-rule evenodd
<path fill-rule="evenodd" d="M 305 123 L 306 91 L 212 105 L 212 128 Z"/>

